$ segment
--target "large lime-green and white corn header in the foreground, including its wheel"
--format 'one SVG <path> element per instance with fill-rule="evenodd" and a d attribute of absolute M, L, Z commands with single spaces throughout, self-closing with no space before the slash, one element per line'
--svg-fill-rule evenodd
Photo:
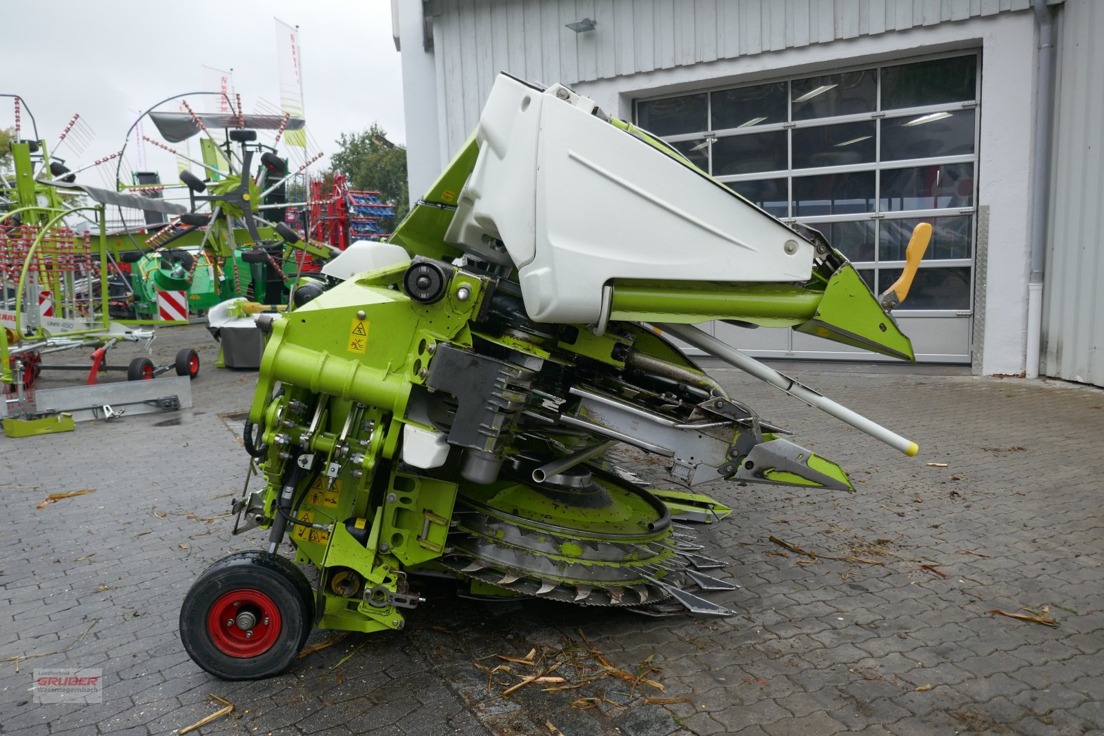
<path fill-rule="evenodd" d="M 295 309 L 259 318 L 243 437 L 257 482 L 234 510 L 235 533 L 267 543 L 194 583 L 184 647 L 220 678 L 273 674 L 312 627 L 402 629 L 418 574 L 482 598 L 730 615 L 703 591 L 736 586 L 684 522 L 731 510 L 690 489 L 851 484 L 682 345 L 917 448 L 692 326 L 789 327 L 911 361 L 889 309 L 926 234 L 879 303 L 816 231 L 564 86 L 500 76 L 390 242 L 350 247 L 299 279 Z M 686 490 L 644 486 L 617 444 L 666 458 Z M 285 538 L 312 583 L 278 554 Z"/>

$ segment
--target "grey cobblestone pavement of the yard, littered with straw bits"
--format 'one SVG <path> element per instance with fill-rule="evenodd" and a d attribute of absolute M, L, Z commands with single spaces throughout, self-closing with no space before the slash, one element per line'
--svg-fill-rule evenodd
<path fill-rule="evenodd" d="M 245 457 L 223 415 L 247 406 L 255 376 L 211 369 L 213 346 L 199 327 L 163 335 L 153 345 L 162 360 L 189 342 L 201 346 L 206 366 L 192 409 L 0 437 L 2 734 L 171 734 L 217 710 L 209 693 L 235 711 L 192 733 L 1104 730 L 1104 392 L 825 366 L 797 373 L 919 441 L 921 456 L 910 459 L 716 367 L 735 396 L 840 462 L 857 487 L 849 495 L 705 489 L 735 508 L 699 536 L 707 554 L 730 563 L 718 575 L 744 586 L 710 595 L 737 616 L 488 605 L 432 586 L 402 633 L 351 634 L 283 675 L 226 683 L 189 660 L 177 616 L 208 564 L 261 546 L 258 532 L 234 537 L 220 515 L 241 488 Z M 134 350 L 118 349 L 116 362 Z M 661 478 L 639 458 L 634 468 Z M 81 489 L 95 492 L 36 508 L 46 493 Z M 992 609 L 1032 609 L 1058 626 Z M 580 630 L 629 672 L 652 657 L 659 672 L 649 676 L 665 690 L 607 679 L 488 694 L 477 658 L 578 644 Z M 102 668 L 103 704 L 35 704 L 31 671 L 41 666 Z"/>

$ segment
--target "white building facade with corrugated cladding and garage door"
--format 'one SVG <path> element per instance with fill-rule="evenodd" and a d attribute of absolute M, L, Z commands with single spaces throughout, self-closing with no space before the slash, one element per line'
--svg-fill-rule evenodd
<path fill-rule="evenodd" d="M 894 312 L 919 360 L 1020 375 L 1036 352 L 1028 284 L 1043 167 L 1040 370 L 1104 385 L 1104 313 L 1094 319 L 1104 308 L 1104 3 L 1038 4 L 393 0 L 411 192 L 466 140 L 499 72 L 561 82 L 767 212 L 821 230 L 875 292 L 900 273 L 912 226 L 932 222 Z M 1053 103 L 1040 87 L 1050 38 Z M 1040 105 L 1055 110 L 1045 146 Z M 761 356 L 877 359 L 792 330 L 710 329 Z"/>

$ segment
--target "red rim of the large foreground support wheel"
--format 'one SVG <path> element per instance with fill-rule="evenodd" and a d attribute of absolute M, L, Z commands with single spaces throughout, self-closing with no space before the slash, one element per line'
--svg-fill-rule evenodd
<path fill-rule="evenodd" d="M 264 654 L 276 643 L 279 631 L 279 609 L 255 588 L 224 594 L 208 614 L 208 633 L 215 648 L 238 659 Z"/>

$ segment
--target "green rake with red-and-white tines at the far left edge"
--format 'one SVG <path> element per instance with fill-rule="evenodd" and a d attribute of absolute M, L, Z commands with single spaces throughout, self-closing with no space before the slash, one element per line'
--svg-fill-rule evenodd
<path fill-rule="evenodd" d="M 56 186 L 72 184 L 76 172 L 51 157 L 22 98 L 3 96 L 14 100 L 17 125 L 9 146 L 11 170 L 0 175 L 0 416 L 4 434 L 18 437 L 73 428 L 72 415 L 46 409 L 35 401 L 35 382 L 44 369 L 87 372 L 86 384 L 95 386 L 109 367 L 127 371 L 132 380 L 152 378 L 176 367 L 190 380 L 199 372 L 199 361 L 189 350 L 181 351 L 173 365 L 156 366 L 148 358 L 136 358 L 126 367 L 107 365 L 112 346 L 152 340 L 152 331 L 146 328 L 162 321 L 112 319 L 112 289 L 123 277 L 108 247 L 104 204 L 87 204 L 84 192 Z M 31 120 L 33 137 L 22 137 L 23 116 Z M 77 117 L 70 121 L 61 142 L 73 132 Z M 169 205 L 155 202 L 148 206 L 163 211 Z M 91 350 L 92 364 L 57 365 L 43 360 L 75 349 Z M 85 394 L 91 405 L 106 405 Z M 79 406 L 77 399 L 66 408 Z"/>

